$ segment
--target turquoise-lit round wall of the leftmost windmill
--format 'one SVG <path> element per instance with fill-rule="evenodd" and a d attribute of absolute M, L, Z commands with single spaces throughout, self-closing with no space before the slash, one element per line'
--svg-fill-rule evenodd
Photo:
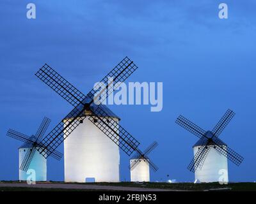
<path fill-rule="evenodd" d="M 30 148 L 20 148 L 19 149 L 19 167 L 22 164 L 26 153 L 30 150 Z M 47 160 L 42 154 L 40 154 L 37 150 L 35 155 L 30 163 L 29 170 L 35 170 L 35 181 L 46 181 L 47 180 Z M 29 174 L 31 175 L 31 174 Z M 29 177 L 26 171 L 22 171 L 19 169 L 19 180 L 27 180 Z"/>

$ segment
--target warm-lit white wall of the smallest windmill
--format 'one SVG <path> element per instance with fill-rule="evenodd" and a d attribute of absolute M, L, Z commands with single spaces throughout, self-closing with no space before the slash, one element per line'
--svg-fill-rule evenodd
<path fill-rule="evenodd" d="M 136 159 L 131 159 L 130 164 L 134 163 L 134 161 L 136 161 Z M 150 182 L 149 166 L 143 159 L 131 170 L 131 182 Z"/>

